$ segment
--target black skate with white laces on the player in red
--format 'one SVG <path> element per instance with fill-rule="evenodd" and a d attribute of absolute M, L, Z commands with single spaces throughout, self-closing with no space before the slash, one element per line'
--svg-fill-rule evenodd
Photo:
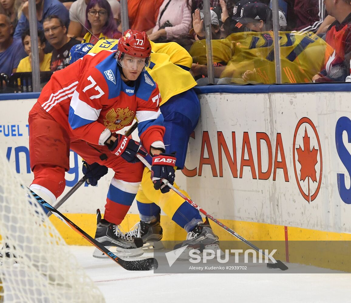
<path fill-rule="evenodd" d="M 100 209 L 97 210 L 97 228 L 95 240 L 110 249 L 116 247 L 118 257 L 137 257 L 143 254 L 143 240 L 125 234 L 119 225 L 101 219 Z M 93 252 L 95 258 L 107 258 L 98 248 Z"/>

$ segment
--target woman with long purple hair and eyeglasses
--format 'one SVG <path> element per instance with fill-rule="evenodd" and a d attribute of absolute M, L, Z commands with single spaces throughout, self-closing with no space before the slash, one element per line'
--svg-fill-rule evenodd
<path fill-rule="evenodd" d="M 107 0 L 91 0 L 85 14 L 85 27 L 88 32 L 82 43 L 90 42 L 95 45 L 99 40 L 119 39 L 122 36 L 114 22 L 111 6 Z"/>

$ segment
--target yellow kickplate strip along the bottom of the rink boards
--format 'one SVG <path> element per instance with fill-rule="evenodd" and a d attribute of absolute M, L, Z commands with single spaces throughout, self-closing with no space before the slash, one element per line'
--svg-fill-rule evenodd
<path fill-rule="evenodd" d="M 96 229 L 96 216 L 93 214 L 65 214 L 81 229 L 91 236 L 94 236 Z M 50 217 L 51 222 L 57 228 L 68 245 L 90 245 L 83 237 L 74 232 L 67 225 L 55 216 Z M 130 230 L 135 223 L 139 222 L 138 214 L 127 214 L 121 226 L 125 231 Z M 220 219 L 219 219 L 220 220 Z M 322 268 L 330 268 L 351 272 L 351 256 L 349 254 L 349 243 L 351 234 L 325 232 L 322 230 L 313 230 L 299 227 L 285 227 L 267 223 L 220 220 L 223 224 L 233 229 L 240 236 L 248 241 L 282 241 L 289 240 L 289 262 L 306 265 L 313 265 Z M 161 225 L 163 228 L 163 239 L 165 241 L 181 241 L 186 237 L 184 229 L 180 228 L 169 217 L 161 216 Z M 226 232 L 217 224 L 211 222 L 214 232 L 222 241 L 238 240 L 233 235 Z M 238 240 L 240 241 L 240 240 Z M 302 242 L 305 241 L 305 242 Z M 313 241 L 313 242 L 312 242 Z M 320 242 L 314 242 L 320 241 Z M 323 241 L 336 241 L 333 245 L 333 251 L 338 246 L 338 254 L 331 252 L 329 247 Z M 285 242 L 286 243 L 286 242 Z M 303 244 L 303 247 L 302 247 Z M 351 244 L 351 242 L 350 242 Z M 280 253 L 276 256 L 281 261 L 287 260 L 285 249 L 283 255 Z"/>

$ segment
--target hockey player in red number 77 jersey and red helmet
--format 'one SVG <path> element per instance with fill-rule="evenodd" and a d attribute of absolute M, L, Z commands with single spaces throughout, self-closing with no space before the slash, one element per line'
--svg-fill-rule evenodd
<path fill-rule="evenodd" d="M 120 255 L 142 253 L 140 238 L 119 229 L 138 191 L 144 166 L 135 155 L 150 153 L 154 179 L 174 182 L 174 156 L 165 154 L 163 116 L 157 84 L 145 71 L 151 46 L 145 32 L 127 30 L 117 51 L 85 56 L 56 71 L 29 112 L 29 151 L 34 180 L 31 190 L 53 204 L 65 188 L 69 150 L 88 164 L 114 170 L 104 219 L 98 214 L 95 239 L 117 246 Z M 114 132 L 138 119 L 139 142 Z M 161 167 L 162 166 L 162 167 Z M 159 167 L 159 166 L 157 166 Z M 155 167 L 156 168 L 156 167 Z M 159 188 L 160 182 L 155 182 Z"/>

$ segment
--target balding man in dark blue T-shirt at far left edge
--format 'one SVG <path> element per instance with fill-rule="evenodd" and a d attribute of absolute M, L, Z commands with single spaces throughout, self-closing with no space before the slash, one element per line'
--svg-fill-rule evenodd
<path fill-rule="evenodd" d="M 26 56 L 20 39 L 12 37 L 13 26 L 8 16 L 0 14 L 0 73 L 10 76 Z"/>

